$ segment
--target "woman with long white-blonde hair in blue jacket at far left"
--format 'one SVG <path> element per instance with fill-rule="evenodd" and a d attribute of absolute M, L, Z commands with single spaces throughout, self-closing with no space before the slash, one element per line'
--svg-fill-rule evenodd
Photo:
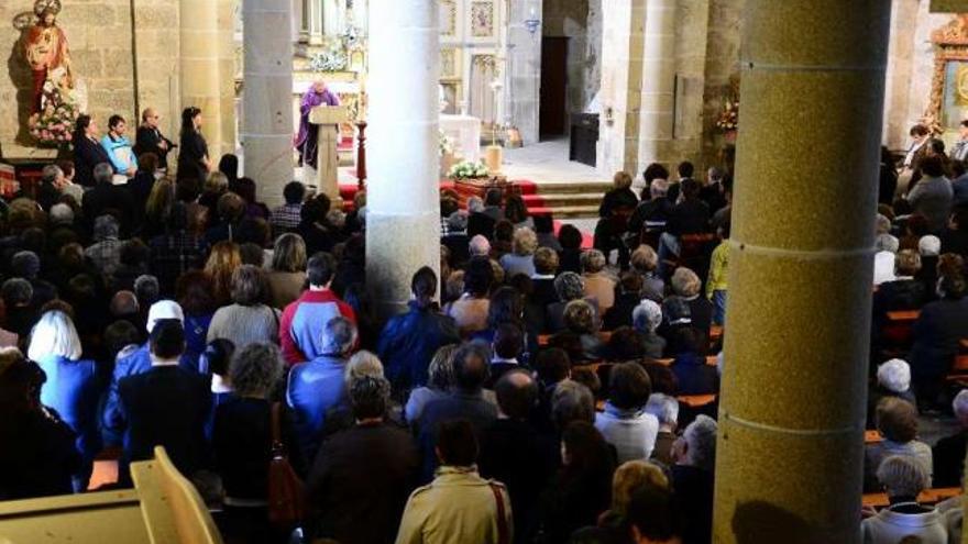
<path fill-rule="evenodd" d="M 28 357 L 47 375 L 41 387 L 41 402 L 56 410 L 77 435 L 75 447 L 81 467 L 72 477 L 75 492 L 87 489 L 95 456 L 101 451 L 98 402 L 102 388 L 97 364 L 80 356 L 80 338 L 70 317 L 61 310 L 41 315 L 31 333 Z"/>

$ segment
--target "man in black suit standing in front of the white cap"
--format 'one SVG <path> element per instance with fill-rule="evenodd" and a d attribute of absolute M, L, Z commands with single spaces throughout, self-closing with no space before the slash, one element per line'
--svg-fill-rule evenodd
<path fill-rule="evenodd" d="M 185 332 L 178 320 L 161 320 L 152 330 L 152 368 L 118 384 L 128 423 L 119 477 L 130 481 L 132 460 L 150 459 L 164 446 L 178 470 L 191 476 L 207 463 L 205 425 L 211 412 L 207 377 L 180 368 Z"/>

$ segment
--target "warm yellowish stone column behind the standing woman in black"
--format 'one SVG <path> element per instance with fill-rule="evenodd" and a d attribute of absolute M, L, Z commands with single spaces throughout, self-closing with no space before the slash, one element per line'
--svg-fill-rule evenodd
<path fill-rule="evenodd" d="M 216 164 L 222 149 L 219 1 L 180 0 L 179 16 L 182 108 L 201 109 L 201 132 Z M 182 112 L 177 115 L 180 119 Z"/>

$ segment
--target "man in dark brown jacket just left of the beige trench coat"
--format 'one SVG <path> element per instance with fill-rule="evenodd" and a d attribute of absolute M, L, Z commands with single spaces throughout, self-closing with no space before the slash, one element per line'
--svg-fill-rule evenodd
<path fill-rule="evenodd" d="M 389 543 L 416 484 L 420 456 L 409 434 L 384 422 L 386 379 L 355 378 L 348 392 L 356 424 L 322 445 L 309 473 L 312 532 L 339 542 Z"/>

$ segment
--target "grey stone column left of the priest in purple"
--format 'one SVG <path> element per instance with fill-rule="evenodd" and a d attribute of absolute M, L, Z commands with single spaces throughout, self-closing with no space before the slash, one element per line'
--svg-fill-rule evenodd
<path fill-rule="evenodd" d="M 244 0 L 245 89 L 242 147 L 245 175 L 260 198 L 283 202 L 293 180 L 293 40 L 290 0 Z"/>

